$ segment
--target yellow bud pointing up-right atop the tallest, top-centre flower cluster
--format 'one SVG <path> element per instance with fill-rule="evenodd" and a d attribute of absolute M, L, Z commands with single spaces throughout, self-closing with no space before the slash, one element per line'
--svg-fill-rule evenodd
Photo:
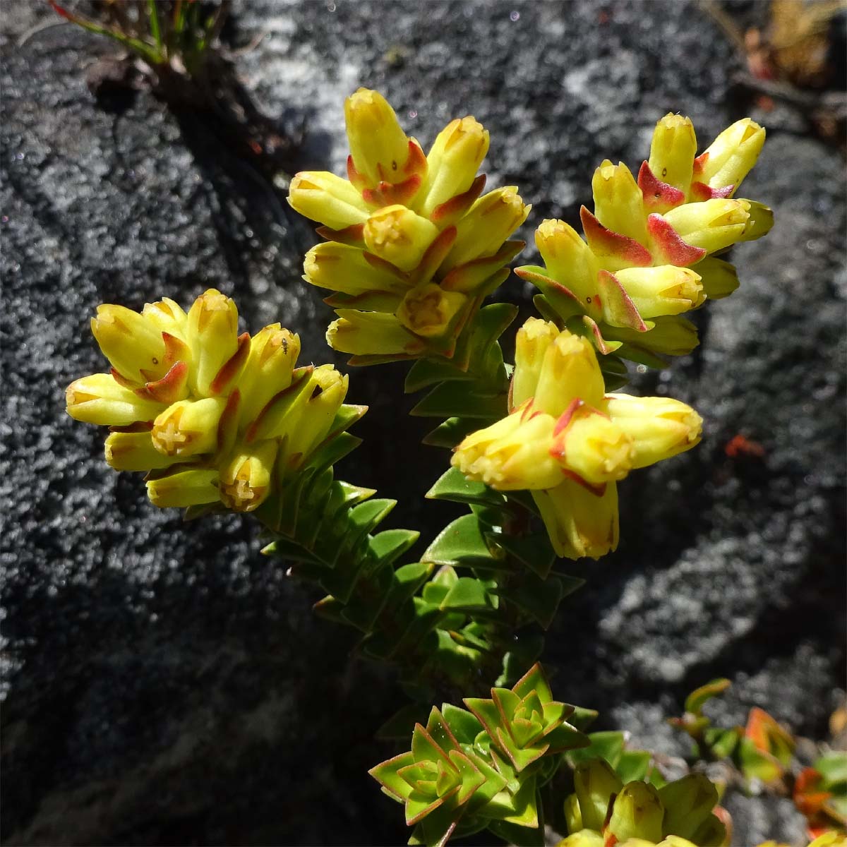
<path fill-rule="evenodd" d="M 416 204 L 429 218 L 435 208 L 471 187 L 488 152 L 489 134 L 470 115 L 451 120 L 427 155 L 427 176 Z"/>

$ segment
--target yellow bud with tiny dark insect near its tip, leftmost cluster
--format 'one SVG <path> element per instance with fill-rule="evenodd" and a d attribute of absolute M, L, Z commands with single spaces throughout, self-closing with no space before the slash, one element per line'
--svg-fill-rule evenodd
<path fill-rule="evenodd" d="M 241 420 L 254 421 L 268 401 L 291 385 L 291 371 L 300 354 L 300 336 L 280 324 L 260 329 L 250 340 L 238 390 L 241 393 Z"/>

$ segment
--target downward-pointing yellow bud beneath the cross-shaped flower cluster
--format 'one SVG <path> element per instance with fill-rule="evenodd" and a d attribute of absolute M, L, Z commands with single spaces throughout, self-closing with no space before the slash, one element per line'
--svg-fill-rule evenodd
<path fill-rule="evenodd" d="M 617 548 L 617 483 L 601 493 L 565 479 L 556 488 L 533 491 L 556 556 L 599 559 Z"/>

